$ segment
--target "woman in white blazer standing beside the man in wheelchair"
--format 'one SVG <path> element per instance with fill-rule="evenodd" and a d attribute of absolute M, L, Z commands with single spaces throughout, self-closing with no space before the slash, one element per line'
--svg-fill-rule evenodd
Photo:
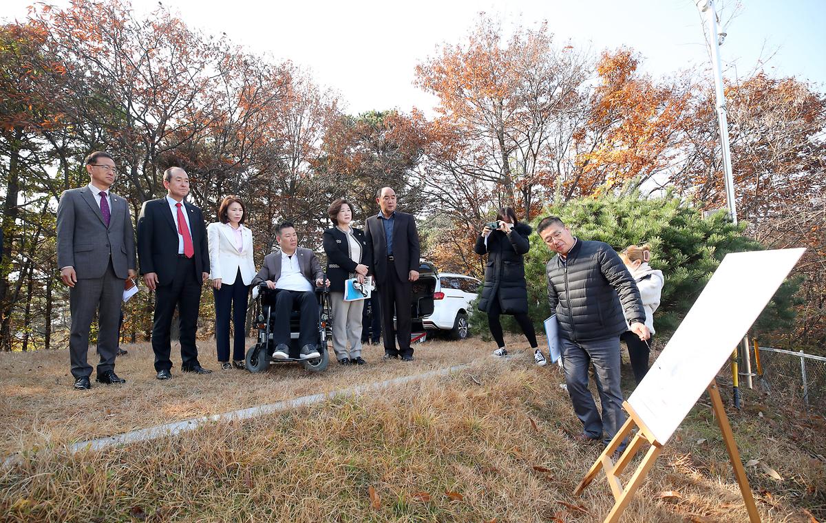
<path fill-rule="evenodd" d="M 210 278 L 215 295 L 215 343 L 221 368 L 244 368 L 249 284 L 255 276 L 253 233 L 244 226 L 244 202 L 228 196 L 218 208 L 218 220 L 207 226 Z M 230 364 L 230 312 L 235 330 Z"/>

